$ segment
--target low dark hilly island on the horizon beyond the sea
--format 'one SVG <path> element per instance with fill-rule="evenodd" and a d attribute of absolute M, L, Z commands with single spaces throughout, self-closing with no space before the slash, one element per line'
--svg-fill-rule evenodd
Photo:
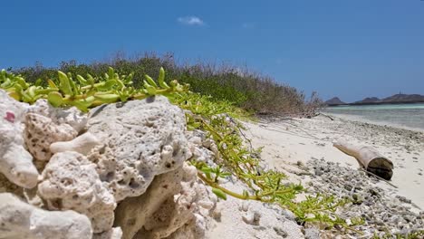
<path fill-rule="evenodd" d="M 371 104 L 406 104 L 406 103 L 419 103 L 424 102 L 424 95 L 419 94 L 394 94 L 390 97 L 379 99 L 377 97 L 367 97 L 363 100 L 355 101 L 352 103 L 345 103 L 338 97 L 334 97 L 325 101 L 328 106 L 337 105 L 371 105 Z"/>

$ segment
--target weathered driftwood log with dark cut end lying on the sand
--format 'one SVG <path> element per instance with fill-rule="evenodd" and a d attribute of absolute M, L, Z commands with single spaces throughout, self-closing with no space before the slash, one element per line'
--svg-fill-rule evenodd
<path fill-rule="evenodd" d="M 338 140 L 333 146 L 356 158 L 361 166 L 372 174 L 386 180 L 390 180 L 393 176 L 393 163 L 382 156 L 375 148 L 353 145 L 345 140 Z"/>

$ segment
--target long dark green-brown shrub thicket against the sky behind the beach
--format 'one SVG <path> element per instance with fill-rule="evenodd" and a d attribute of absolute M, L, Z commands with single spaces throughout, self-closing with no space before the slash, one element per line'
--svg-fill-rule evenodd
<path fill-rule="evenodd" d="M 87 73 L 96 76 L 107 72 L 109 66 L 120 74 L 134 72 L 135 86 L 140 86 L 145 74 L 156 79 L 162 66 L 167 71 L 166 81 L 178 79 L 180 82 L 189 83 L 191 91 L 210 95 L 214 100 L 233 102 L 238 107 L 258 114 L 311 117 L 322 104 L 316 93 L 313 93 L 311 100 L 305 100 L 302 91 L 278 83 L 268 76 L 251 72 L 246 67 L 238 68 L 226 63 L 217 66 L 210 62 L 178 63 L 172 53 L 163 56 L 144 53 L 132 58 L 127 58 L 125 53 L 116 53 L 111 59 L 102 62 L 62 62 L 58 68 L 44 68 L 37 62 L 34 67 L 25 67 L 13 72 L 22 74 L 27 81 L 42 79 L 45 82 L 57 77 L 57 70 L 82 76 Z"/>

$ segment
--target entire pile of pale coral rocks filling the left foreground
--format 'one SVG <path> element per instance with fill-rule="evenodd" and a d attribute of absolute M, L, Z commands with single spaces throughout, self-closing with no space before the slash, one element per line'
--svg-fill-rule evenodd
<path fill-rule="evenodd" d="M 188 133 L 165 97 L 90 114 L 0 97 L 0 192 L 23 200 L 0 194 L 0 238 L 195 239 L 219 215 L 217 196 L 185 163 L 213 164 L 217 146 Z"/>

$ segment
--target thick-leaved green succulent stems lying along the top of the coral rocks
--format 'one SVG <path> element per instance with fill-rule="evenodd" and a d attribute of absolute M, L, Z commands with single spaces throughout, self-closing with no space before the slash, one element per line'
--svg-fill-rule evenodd
<path fill-rule="evenodd" d="M 100 78 L 87 74 L 84 78 L 71 73 L 58 72 L 58 80 L 48 80 L 47 86 L 40 82 L 30 84 L 24 78 L 2 70 L 0 73 L 0 87 L 9 92 L 15 100 L 34 103 L 38 99 L 47 99 L 54 107 L 75 106 L 79 110 L 87 111 L 92 107 L 104 103 L 113 103 L 126 100 L 141 100 L 152 95 L 169 95 L 176 92 L 188 91 L 187 85 L 178 81 L 167 84 L 165 71 L 160 68 L 159 85 L 145 75 L 141 88 L 135 89 L 132 85 L 133 74 L 119 75 L 110 67 L 107 73 Z"/>

